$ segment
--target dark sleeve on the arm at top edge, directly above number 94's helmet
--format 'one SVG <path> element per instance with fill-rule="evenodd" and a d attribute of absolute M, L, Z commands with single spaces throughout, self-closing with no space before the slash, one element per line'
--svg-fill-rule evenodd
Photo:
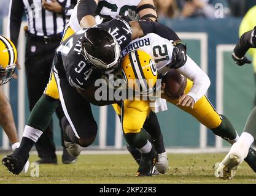
<path fill-rule="evenodd" d="M 95 15 L 97 4 L 94 0 L 80 0 L 77 5 L 77 20 L 80 22 L 87 15 Z"/>

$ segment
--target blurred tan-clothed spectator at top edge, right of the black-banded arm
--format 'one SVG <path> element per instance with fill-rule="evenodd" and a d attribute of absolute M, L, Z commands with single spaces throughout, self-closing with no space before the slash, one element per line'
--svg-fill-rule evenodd
<path fill-rule="evenodd" d="M 155 1 L 158 18 L 177 17 L 177 4 L 175 0 L 157 0 Z"/>

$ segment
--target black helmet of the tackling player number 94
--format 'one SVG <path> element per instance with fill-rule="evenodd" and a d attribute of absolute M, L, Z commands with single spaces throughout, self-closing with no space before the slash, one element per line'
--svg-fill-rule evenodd
<path fill-rule="evenodd" d="M 91 28 L 85 32 L 82 53 L 95 69 L 103 72 L 120 69 L 120 45 L 103 29 Z"/>

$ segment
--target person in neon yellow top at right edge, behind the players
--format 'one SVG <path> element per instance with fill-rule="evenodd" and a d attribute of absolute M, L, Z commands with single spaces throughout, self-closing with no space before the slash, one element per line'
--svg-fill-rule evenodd
<path fill-rule="evenodd" d="M 254 27 L 256 26 L 255 16 L 256 16 L 256 6 L 249 9 L 249 11 L 246 13 L 244 18 L 242 19 L 241 25 L 239 27 L 239 37 L 241 37 L 242 34 L 244 34 L 244 32 L 254 29 Z M 254 66 L 254 78 L 256 82 L 256 49 L 250 48 L 248 52 L 252 56 L 252 65 Z M 254 99 L 254 106 L 256 106 L 256 96 Z"/>

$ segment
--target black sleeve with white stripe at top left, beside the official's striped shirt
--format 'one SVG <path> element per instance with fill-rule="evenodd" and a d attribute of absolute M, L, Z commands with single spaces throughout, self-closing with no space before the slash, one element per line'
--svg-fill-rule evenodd
<path fill-rule="evenodd" d="M 18 34 L 20 34 L 20 25 L 24 13 L 24 4 L 20 0 L 10 1 L 9 18 L 7 25 L 7 37 L 14 42 L 15 47 L 18 43 Z"/>

